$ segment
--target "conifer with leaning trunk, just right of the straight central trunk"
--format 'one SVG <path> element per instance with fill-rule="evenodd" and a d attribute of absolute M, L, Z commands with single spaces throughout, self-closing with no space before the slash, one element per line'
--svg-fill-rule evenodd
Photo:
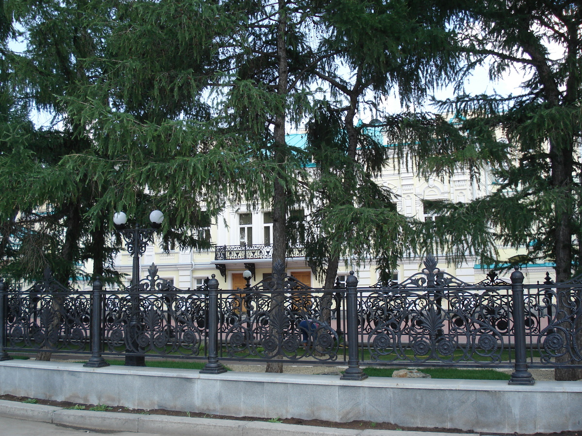
<path fill-rule="evenodd" d="M 322 15 L 329 28 L 322 46 L 338 53 L 343 66 L 315 70 L 330 91 L 308 129 L 318 167 L 307 255 L 320 274 L 325 271 L 326 289 L 333 287 L 340 255 L 373 258 L 387 273 L 410 252 L 404 247 L 414 241 L 412 222 L 397 212 L 395 194 L 377 184 L 392 164 L 392 150 L 378 119 L 366 125 L 357 117 L 363 110 L 381 117 L 380 99 L 390 93 L 402 105 L 420 104 L 455 77 L 459 56 L 443 50 L 454 36 L 446 29 L 448 12 L 435 13 L 434 6 L 336 0 Z"/>

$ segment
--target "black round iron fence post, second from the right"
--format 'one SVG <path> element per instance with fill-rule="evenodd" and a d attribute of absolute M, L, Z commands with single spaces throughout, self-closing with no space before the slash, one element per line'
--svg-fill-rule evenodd
<path fill-rule="evenodd" d="M 357 285 L 358 279 L 354 271 L 346 278 L 346 306 L 347 306 L 347 369 L 340 380 L 364 380 L 368 376 L 360 368 L 358 360 L 358 330 L 357 330 Z"/>

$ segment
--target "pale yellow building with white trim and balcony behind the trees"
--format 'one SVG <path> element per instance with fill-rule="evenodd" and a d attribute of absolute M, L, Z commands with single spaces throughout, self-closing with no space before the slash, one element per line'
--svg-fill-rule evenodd
<path fill-rule="evenodd" d="M 288 142 L 300 145 L 305 141 L 304 134 L 288 135 Z M 397 206 L 400 213 L 416 217 L 420 220 L 434 220 L 435 216 L 425 213 L 423 200 L 449 200 L 452 202 L 470 202 L 475 198 L 489 194 L 495 189 L 494 180 L 487 173 L 481 177 L 478 184 L 471 180 L 466 171 L 459 171 L 445 180 L 438 178 L 423 179 L 417 177 L 413 170 L 404 170 L 396 165 L 386 166 L 378 184 L 384 185 L 396 194 Z M 302 210 L 293 212 L 301 216 Z M 220 216 L 214 219 L 210 228 L 200 230 L 200 236 L 210 238 L 212 249 L 208 251 L 182 251 L 178 248 L 164 252 L 159 244 L 147 247 L 141 258 L 141 274 L 147 275 L 147 268 L 151 263 L 159 269 L 159 276 L 171 281 L 179 288 L 196 288 L 204 280 L 216 274 L 222 289 L 236 289 L 246 283 L 242 274 L 244 270 L 253 272 L 252 283 L 262 280 L 271 274 L 271 244 L 272 220 L 271 211 L 265 209 L 249 209 L 246 204 L 232 204 Z M 506 256 L 517 255 L 513 250 L 501 250 Z M 526 251 L 526 248 L 523 249 Z M 523 254 L 523 253 L 522 253 Z M 441 270 L 446 271 L 466 283 L 478 283 L 484 280 L 489 272 L 488 266 L 477 264 L 476 259 L 462 265 L 446 265 L 446 253 L 434 253 L 439 261 Z M 300 249 L 289 254 L 287 259 L 287 273 L 297 280 L 321 287 Z M 359 265 L 358 265 L 359 264 Z M 132 271 L 132 258 L 127 252 L 118 253 L 115 258 L 115 267 L 122 273 L 128 274 L 129 283 Z M 404 258 L 397 271 L 393 271 L 393 279 L 402 281 L 412 274 L 423 269 L 423 259 Z M 544 281 L 546 271 L 553 276 L 553 264 L 528 265 L 523 267 L 526 277 L 525 283 Z M 344 259 L 340 262 L 338 277 L 343 281 L 350 270 L 356 271 L 361 286 L 377 283 L 378 273 L 374 259 L 360 259 L 353 262 Z M 509 273 L 502 274 L 509 277 Z"/>

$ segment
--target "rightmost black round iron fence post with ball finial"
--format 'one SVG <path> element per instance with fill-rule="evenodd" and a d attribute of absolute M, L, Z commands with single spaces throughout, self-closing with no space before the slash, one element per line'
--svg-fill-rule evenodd
<path fill-rule="evenodd" d="M 515 346 L 515 370 L 508 384 L 533 385 L 534 378 L 527 370 L 525 303 L 523 301 L 523 274 L 515 269 L 511 274 L 513 299 L 513 337 Z"/>

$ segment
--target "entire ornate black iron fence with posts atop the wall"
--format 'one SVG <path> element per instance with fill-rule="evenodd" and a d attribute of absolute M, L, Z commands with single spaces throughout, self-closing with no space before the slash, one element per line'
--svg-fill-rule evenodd
<path fill-rule="evenodd" d="M 282 264 L 254 286 L 219 290 L 212 277 L 196 290 L 174 287 L 152 265 L 140 283 L 115 292 L 63 287 L 45 279 L 25 291 L 0 282 L 0 360 L 8 352 L 91 352 L 102 356 L 347 363 L 342 378 L 361 380 L 360 364 L 513 367 L 510 383 L 531 384 L 527 367 L 582 367 L 582 281 L 523 285 L 490 273 L 464 283 L 428 256 L 401 283 L 311 288 Z"/>

